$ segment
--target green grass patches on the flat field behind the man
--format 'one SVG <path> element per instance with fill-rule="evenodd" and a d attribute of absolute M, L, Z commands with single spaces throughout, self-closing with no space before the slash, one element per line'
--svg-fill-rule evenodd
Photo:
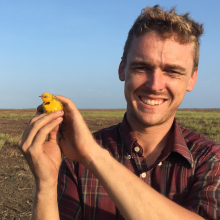
<path fill-rule="evenodd" d="M 125 109 L 114 110 L 80 110 L 84 118 L 92 120 L 101 119 L 97 125 L 102 125 L 106 118 L 123 118 Z M 34 114 L 1 114 L 0 118 L 31 118 Z M 193 132 L 204 135 L 206 138 L 220 143 L 220 110 L 178 110 L 176 118 L 180 126 L 188 128 Z M 10 137 L 9 135 L 0 134 L 0 148 L 8 141 L 16 144 L 20 136 Z M 3 144 L 2 144 L 3 143 Z"/>

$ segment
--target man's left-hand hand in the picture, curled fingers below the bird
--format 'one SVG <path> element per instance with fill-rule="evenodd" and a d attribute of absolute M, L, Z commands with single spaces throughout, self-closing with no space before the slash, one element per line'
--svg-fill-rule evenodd
<path fill-rule="evenodd" d="M 57 187 L 61 163 L 58 130 L 63 114 L 63 111 L 59 111 L 36 115 L 18 141 L 18 147 L 27 160 L 39 189 Z M 45 141 L 48 134 L 49 140 Z"/>

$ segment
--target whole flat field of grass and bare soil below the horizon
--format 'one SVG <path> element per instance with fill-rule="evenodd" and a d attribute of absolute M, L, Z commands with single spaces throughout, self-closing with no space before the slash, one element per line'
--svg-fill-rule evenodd
<path fill-rule="evenodd" d="M 0 220 L 30 219 L 34 178 L 17 141 L 35 109 L 0 109 Z M 121 122 L 125 110 L 80 110 L 91 132 Z M 220 109 L 178 110 L 180 126 L 220 143 Z"/>

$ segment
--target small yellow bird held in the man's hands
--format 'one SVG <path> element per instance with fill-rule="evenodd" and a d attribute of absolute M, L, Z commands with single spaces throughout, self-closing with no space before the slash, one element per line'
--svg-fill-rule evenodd
<path fill-rule="evenodd" d="M 43 93 L 43 95 L 39 97 L 41 97 L 43 100 L 43 104 L 42 104 L 43 113 L 48 114 L 51 112 L 63 110 L 63 104 L 59 101 L 59 99 L 56 96 L 48 92 L 45 92 Z"/>

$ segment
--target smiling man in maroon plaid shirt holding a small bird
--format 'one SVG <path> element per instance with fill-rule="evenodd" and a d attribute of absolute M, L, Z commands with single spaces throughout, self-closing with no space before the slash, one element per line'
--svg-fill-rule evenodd
<path fill-rule="evenodd" d="M 174 9 L 142 11 L 119 65 L 127 112 L 95 140 L 71 100 L 57 96 L 64 112 L 38 107 L 19 141 L 36 179 L 32 219 L 219 219 L 219 144 L 174 119 L 196 83 L 202 32 Z"/>

